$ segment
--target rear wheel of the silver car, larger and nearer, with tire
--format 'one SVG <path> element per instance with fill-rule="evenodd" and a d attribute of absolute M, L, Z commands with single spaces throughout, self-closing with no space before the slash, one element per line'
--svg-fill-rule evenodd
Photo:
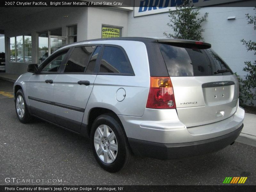
<path fill-rule="evenodd" d="M 98 116 L 91 130 L 93 155 L 108 172 L 118 172 L 131 163 L 132 154 L 123 126 L 115 116 Z"/>

